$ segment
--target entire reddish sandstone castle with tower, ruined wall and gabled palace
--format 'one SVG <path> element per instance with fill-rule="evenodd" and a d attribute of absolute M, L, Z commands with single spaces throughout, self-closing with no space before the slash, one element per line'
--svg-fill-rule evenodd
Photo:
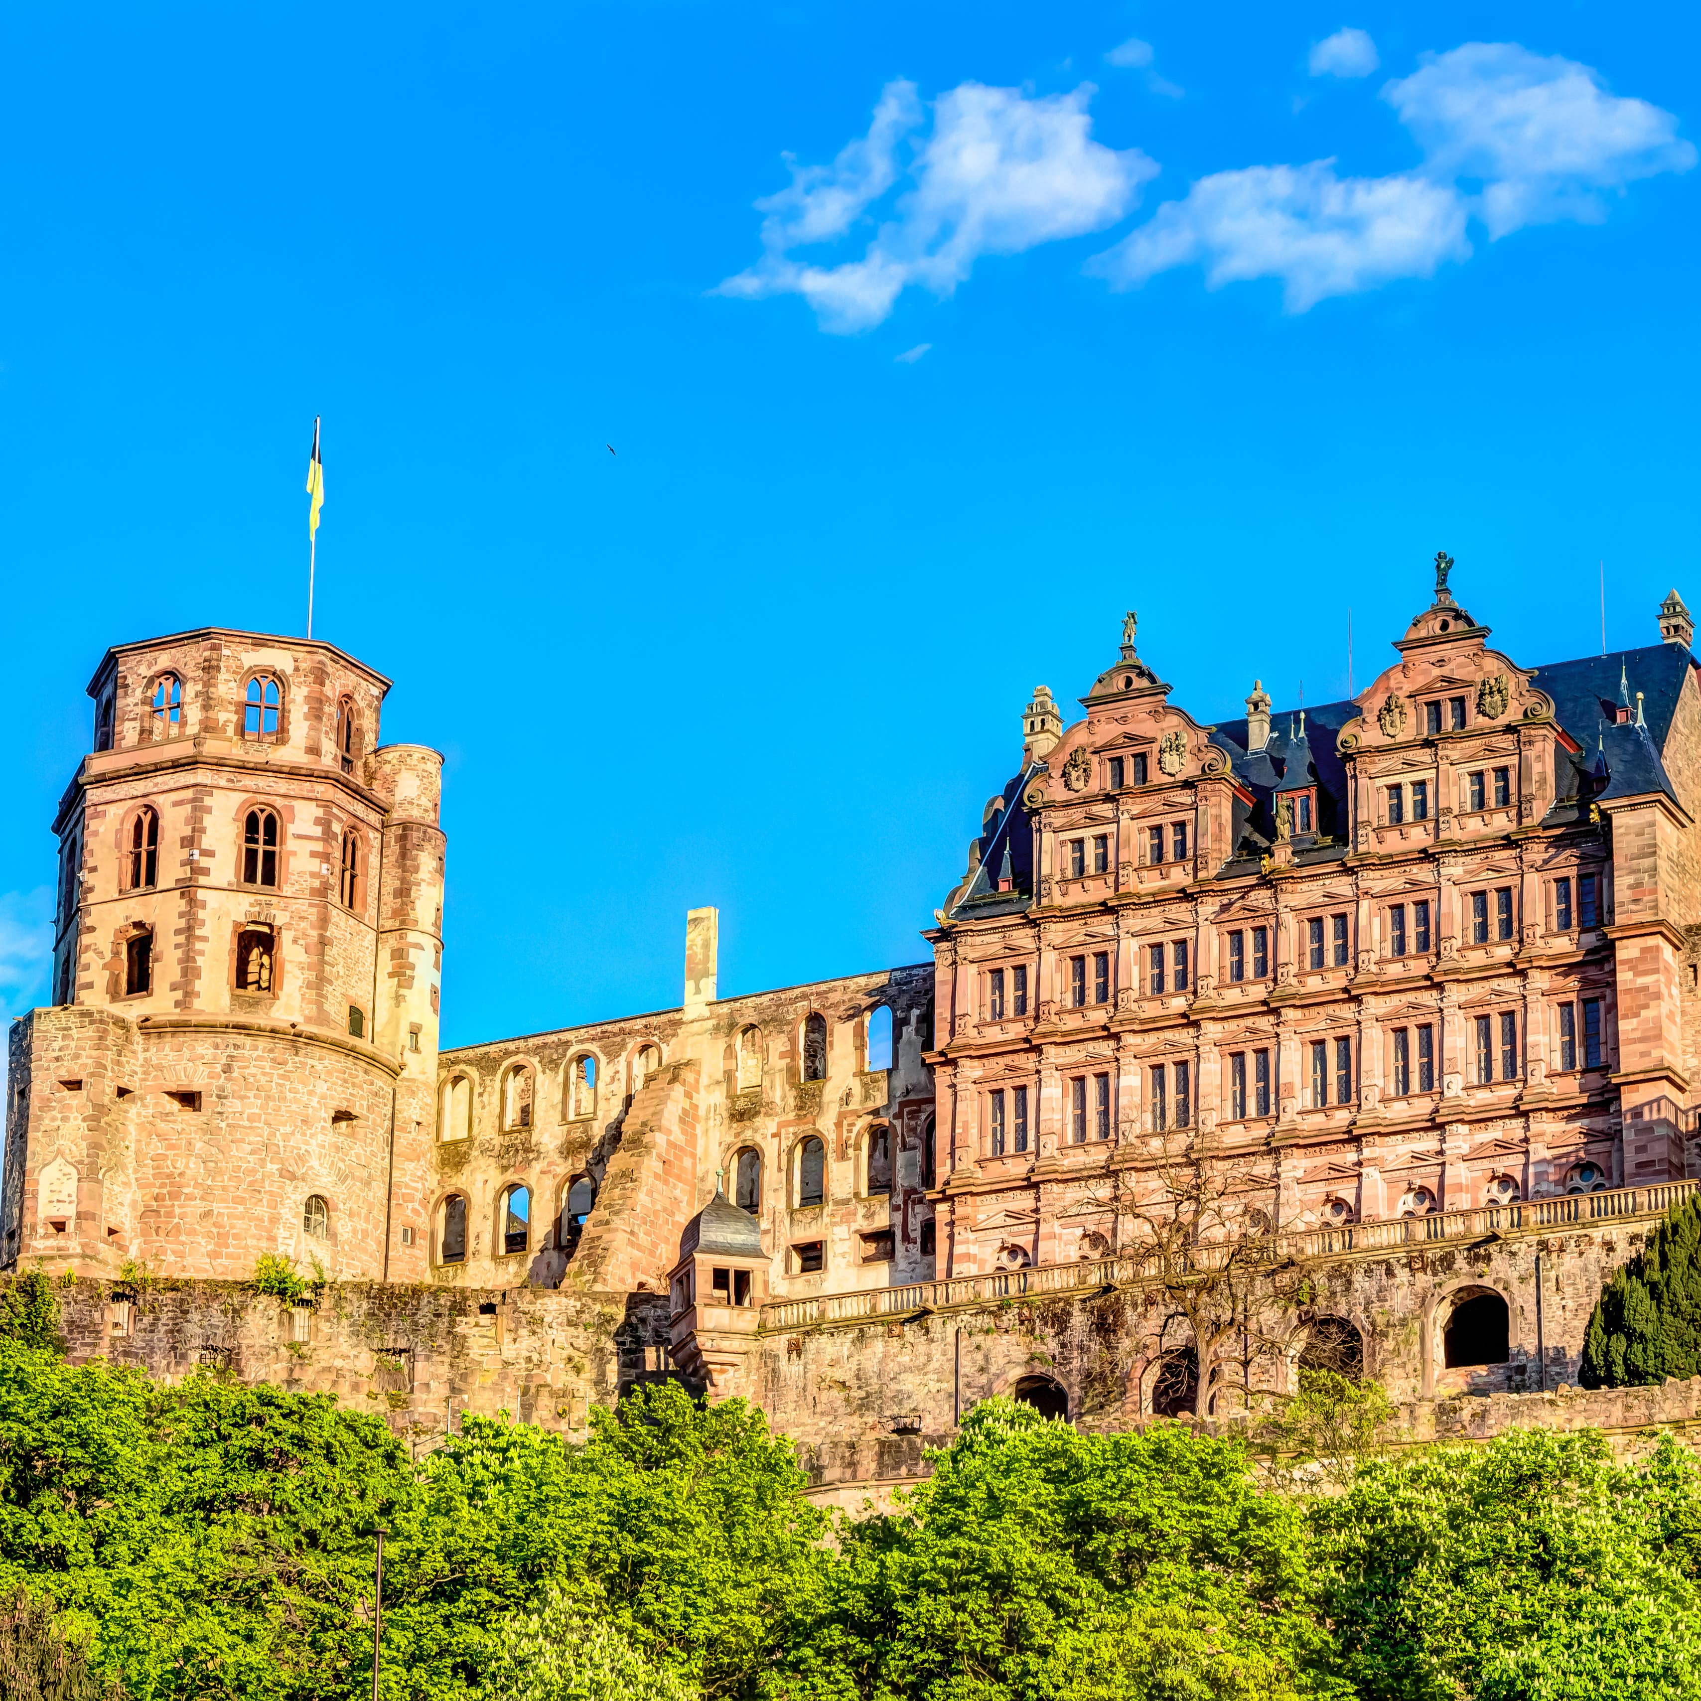
<path fill-rule="evenodd" d="M 1192 1398 L 1152 1269 L 1184 1153 L 1196 1245 L 1313 1271 L 1245 1381 L 1325 1339 L 1397 1398 L 1573 1380 L 1696 1163 L 1692 623 L 1672 592 L 1658 641 L 1524 667 L 1451 566 L 1352 701 L 1254 686 L 1215 726 L 1129 614 L 1080 720 L 1026 706 L 930 961 L 721 998 L 694 910 L 677 1009 L 452 1051 L 441 759 L 379 742 L 388 680 L 218 628 L 117 646 L 53 823 L 54 1002 L 12 1029 L 3 1259 L 194 1294 L 281 1254 L 490 1320 L 435 1368 L 386 1337 L 415 1419 L 459 1376 L 572 1429 L 680 1374 L 873 1480 L 1000 1388 Z M 197 1344 L 211 1303 L 153 1345 L 119 1305 L 87 1351 L 238 1351 Z M 332 1335 L 321 1378 L 376 1386 Z"/>

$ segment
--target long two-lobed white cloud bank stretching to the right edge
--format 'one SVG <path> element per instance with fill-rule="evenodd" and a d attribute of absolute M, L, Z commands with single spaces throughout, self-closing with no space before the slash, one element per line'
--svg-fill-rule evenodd
<path fill-rule="evenodd" d="M 1607 94 L 1587 65 L 1516 43 L 1429 54 L 1381 97 L 1424 150 L 1388 177 L 1340 177 L 1334 160 L 1199 179 L 1089 270 L 1135 287 L 1175 265 L 1215 286 L 1279 277 L 1289 313 L 1397 277 L 1429 277 L 1490 238 L 1562 218 L 1599 219 L 1602 191 L 1686 172 L 1696 151 L 1670 112 Z"/>

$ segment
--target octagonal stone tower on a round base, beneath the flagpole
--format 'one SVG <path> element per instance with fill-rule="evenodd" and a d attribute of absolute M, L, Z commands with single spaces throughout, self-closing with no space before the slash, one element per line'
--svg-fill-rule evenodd
<path fill-rule="evenodd" d="M 54 1004 L 12 1029 L 5 1264 L 424 1274 L 442 759 L 378 747 L 388 689 L 311 640 L 107 651 Z"/>

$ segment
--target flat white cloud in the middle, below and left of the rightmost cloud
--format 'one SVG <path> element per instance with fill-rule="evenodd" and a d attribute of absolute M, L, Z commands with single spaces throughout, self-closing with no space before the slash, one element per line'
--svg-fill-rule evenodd
<path fill-rule="evenodd" d="M 1288 311 L 1303 313 L 1325 296 L 1427 277 L 1470 252 L 1454 191 L 1422 177 L 1339 177 L 1334 160 L 1315 160 L 1203 177 L 1089 270 L 1119 289 L 1194 264 L 1211 289 L 1279 277 Z"/>

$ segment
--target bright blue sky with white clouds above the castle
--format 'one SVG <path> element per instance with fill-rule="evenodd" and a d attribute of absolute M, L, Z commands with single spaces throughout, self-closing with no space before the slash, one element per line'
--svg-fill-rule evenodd
<path fill-rule="evenodd" d="M 0 1007 L 104 646 L 447 755 L 444 1039 L 917 961 L 1019 711 L 1201 720 L 1696 561 L 1689 7 L 9 7 Z M 760 202 L 760 206 L 759 206 Z M 609 447 L 614 447 L 614 454 Z"/>

